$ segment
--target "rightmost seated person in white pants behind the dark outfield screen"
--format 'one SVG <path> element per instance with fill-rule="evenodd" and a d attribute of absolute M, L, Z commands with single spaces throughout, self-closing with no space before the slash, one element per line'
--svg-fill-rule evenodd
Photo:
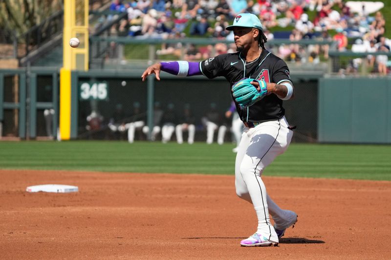
<path fill-rule="evenodd" d="M 215 131 L 218 129 L 217 143 L 223 144 L 227 126 L 224 125 L 222 117 L 220 113 L 217 111 L 216 103 L 211 103 L 210 110 L 201 119 L 201 121 L 206 128 L 206 143 L 207 144 L 213 143 L 213 137 L 215 135 Z"/>

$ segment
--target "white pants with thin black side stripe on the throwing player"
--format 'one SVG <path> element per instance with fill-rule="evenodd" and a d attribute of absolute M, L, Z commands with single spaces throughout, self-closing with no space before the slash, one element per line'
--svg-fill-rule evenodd
<path fill-rule="evenodd" d="M 261 175 L 264 168 L 289 146 L 293 132 L 288 126 L 283 117 L 250 129 L 244 127 L 235 162 L 236 193 L 254 205 L 258 217 L 257 233 L 273 242 L 279 240 L 270 222 L 269 212 L 278 226 L 286 220 L 287 211 L 267 195 Z"/>

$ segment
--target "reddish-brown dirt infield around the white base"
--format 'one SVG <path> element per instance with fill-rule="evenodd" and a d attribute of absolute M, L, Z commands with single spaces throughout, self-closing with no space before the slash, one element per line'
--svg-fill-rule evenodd
<path fill-rule="evenodd" d="M 391 182 L 264 177 L 299 215 L 278 247 L 256 230 L 234 176 L 0 170 L 1 259 L 386 259 Z M 38 184 L 73 194 L 27 193 Z"/>

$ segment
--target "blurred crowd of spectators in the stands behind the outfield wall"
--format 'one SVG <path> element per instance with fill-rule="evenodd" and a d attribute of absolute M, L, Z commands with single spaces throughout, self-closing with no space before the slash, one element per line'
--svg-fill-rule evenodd
<path fill-rule="evenodd" d="M 259 16 L 269 40 L 334 40 L 338 51 L 389 52 L 391 42 L 384 37 L 385 19 L 380 11 L 369 15 L 371 10 L 367 8 L 368 5 L 352 8 L 342 0 L 113 0 L 109 7 L 111 11 L 128 14 L 127 19 L 115 27 L 119 36 L 141 39 L 198 36 L 230 40 L 233 34 L 224 28 L 239 13 L 251 12 Z M 163 44 L 157 55 L 179 57 L 178 47 L 183 47 L 180 40 L 174 45 Z M 201 60 L 236 50 L 235 46 L 226 44 L 185 47 L 186 60 Z M 321 59 L 328 59 L 329 45 L 281 44 L 277 51 L 277 55 L 287 61 L 319 63 Z M 349 60 L 344 70 L 355 72 L 361 62 L 384 75 L 390 67 L 387 55 L 369 55 L 367 59 Z"/>

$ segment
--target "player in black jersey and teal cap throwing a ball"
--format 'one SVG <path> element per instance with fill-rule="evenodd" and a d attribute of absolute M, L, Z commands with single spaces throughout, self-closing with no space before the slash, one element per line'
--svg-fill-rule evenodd
<path fill-rule="evenodd" d="M 209 79 L 222 76 L 228 80 L 244 124 L 235 162 L 236 193 L 253 204 L 258 217 L 255 234 L 241 240 L 240 244 L 277 245 L 285 229 L 296 223 L 297 215 L 293 211 L 281 209 L 267 195 L 261 175 L 265 167 L 287 149 L 292 139 L 293 132 L 285 119 L 282 102 L 293 97 L 294 88 L 286 63 L 264 48 L 267 39 L 257 16 L 239 14 L 226 30 L 234 32 L 238 52 L 218 55 L 201 62 L 156 63 L 148 67 L 141 77 L 145 80 L 154 73 L 156 79 L 160 80 L 160 71 L 163 70 L 178 76 L 204 75 Z M 243 78 L 251 81 L 248 83 L 251 89 L 247 89 L 252 92 L 245 96 L 237 92 Z M 257 91 L 253 91 L 253 86 Z M 243 102 L 248 97 L 254 101 L 251 105 Z M 270 222 L 269 213 L 273 217 L 274 226 Z"/>

